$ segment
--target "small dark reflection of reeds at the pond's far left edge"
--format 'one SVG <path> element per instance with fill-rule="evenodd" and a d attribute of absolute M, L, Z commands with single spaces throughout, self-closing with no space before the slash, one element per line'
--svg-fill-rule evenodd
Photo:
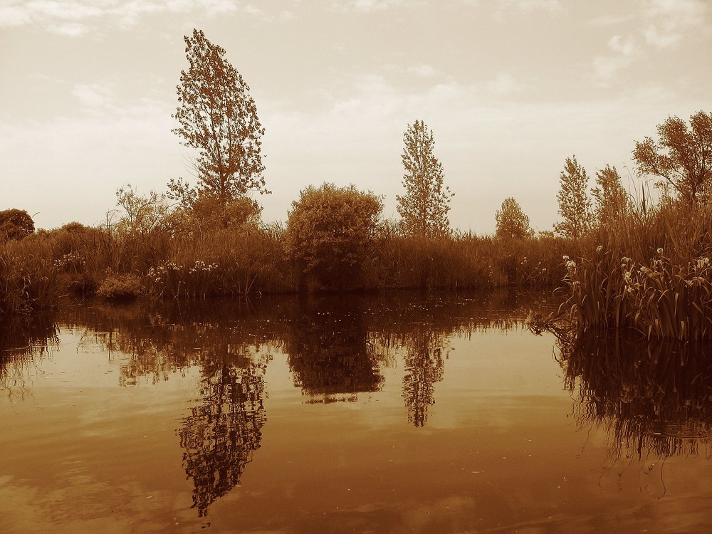
<path fill-rule="evenodd" d="M 36 315 L 31 323 L 0 323 L 0 389 L 9 395 L 24 391 L 36 360 L 51 354 L 59 339 L 54 318 Z"/>

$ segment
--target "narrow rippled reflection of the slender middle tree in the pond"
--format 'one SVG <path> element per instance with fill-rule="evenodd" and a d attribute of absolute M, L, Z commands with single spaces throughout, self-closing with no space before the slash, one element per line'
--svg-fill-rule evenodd
<path fill-rule="evenodd" d="M 408 408 L 408 422 L 425 426 L 428 407 L 435 404 L 436 382 L 443 379 L 444 337 L 431 330 L 413 333 L 405 343 L 403 397 Z"/>

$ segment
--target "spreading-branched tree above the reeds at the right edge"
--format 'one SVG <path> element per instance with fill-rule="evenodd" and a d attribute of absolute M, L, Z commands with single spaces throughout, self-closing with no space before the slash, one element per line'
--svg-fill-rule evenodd
<path fill-rule="evenodd" d="M 679 117 L 658 125 L 659 140 L 635 143 L 633 158 L 639 172 L 662 178 L 685 204 L 708 199 L 712 179 L 712 112 L 698 111 L 690 127 Z"/>

